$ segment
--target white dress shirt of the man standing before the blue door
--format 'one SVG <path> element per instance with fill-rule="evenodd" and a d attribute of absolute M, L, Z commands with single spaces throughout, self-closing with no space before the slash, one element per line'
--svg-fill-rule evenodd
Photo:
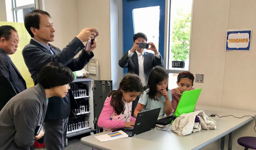
<path fill-rule="evenodd" d="M 143 53 L 139 53 L 138 51 L 135 51 L 138 55 L 138 64 L 139 64 L 139 78 L 141 80 L 142 86 L 147 85 L 147 79 L 144 73 L 144 51 Z M 131 51 L 128 51 L 128 57 L 131 57 L 133 53 Z M 155 55 L 155 57 L 160 58 L 159 53 Z"/>

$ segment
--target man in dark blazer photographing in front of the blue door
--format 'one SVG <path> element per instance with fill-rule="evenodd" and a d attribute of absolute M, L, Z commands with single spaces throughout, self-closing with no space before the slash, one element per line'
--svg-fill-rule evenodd
<path fill-rule="evenodd" d="M 132 48 L 124 54 L 124 56 L 119 60 L 118 64 L 122 68 L 128 68 L 129 73 L 135 73 L 140 77 L 143 86 L 147 85 L 147 80 L 150 71 L 155 66 L 164 66 L 164 60 L 161 54 L 156 49 L 154 43 L 149 42 L 149 48 L 147 50 L 152 50 L 153 53 L 144 52 L 143 48 L 139 48 L 137 43 L 146 43 L 147 36 L 144 33 L 136 33 L 133 36 L 133 46 Z M 132 116 L 134 109 L 138 103 L 138 98 L 132 103 Z"/>

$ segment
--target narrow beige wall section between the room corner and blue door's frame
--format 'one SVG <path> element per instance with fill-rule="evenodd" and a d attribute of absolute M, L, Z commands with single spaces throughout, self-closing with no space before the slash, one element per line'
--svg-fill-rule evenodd
<path fill-rule="evenodd" d="M 99 62 L 100 80 L 111 80 L 110 1 L 78 0 L 78 11 L 79 30 L 85 27 L 99 30 L 93 58 Z"/>

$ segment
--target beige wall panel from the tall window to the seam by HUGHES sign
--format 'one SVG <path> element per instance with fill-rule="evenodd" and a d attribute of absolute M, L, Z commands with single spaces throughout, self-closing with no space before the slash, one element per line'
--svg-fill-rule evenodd
<path fill-rule="evenodd" d="M 230 0 L 194 0 L 190 71 L 204 74 L 198 104 L 221 107 Z M 220 17 L 221 16 L 221 17 Z"/>

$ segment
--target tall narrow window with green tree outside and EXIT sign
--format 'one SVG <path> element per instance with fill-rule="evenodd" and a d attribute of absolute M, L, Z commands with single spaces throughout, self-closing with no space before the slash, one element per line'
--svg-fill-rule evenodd
<path fill-rule="evenodd" d="M 189 70 L 189 46 L 192 0 L 172 0 L 169 18 L 169 49 L 167 49 L 167 72 L 169 89 L 177 87 L 181 70 Z"/>

